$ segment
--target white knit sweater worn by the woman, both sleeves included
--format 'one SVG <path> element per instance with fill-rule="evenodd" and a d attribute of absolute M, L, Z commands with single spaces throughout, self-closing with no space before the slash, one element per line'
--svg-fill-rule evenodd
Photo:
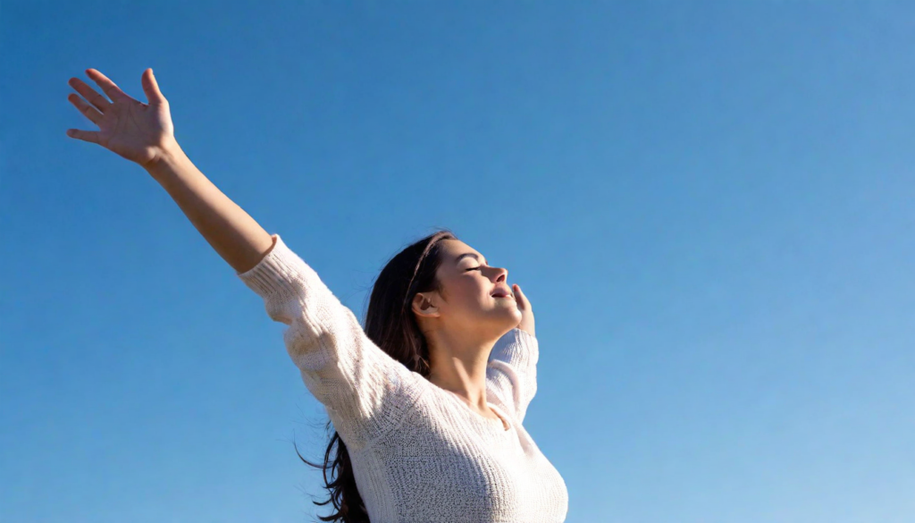
<path fill-rule="evenodd" d="M 537 389 L 533 335 L 513 329 L 490 354 L 487 401 L 506 430 L 372 343 L 314 269 L 273 237 L 238 277 L 288 325 L 286 349 L 347 445 L 371 523 L 565 520 L 565 482 L 522 426 Z"/>

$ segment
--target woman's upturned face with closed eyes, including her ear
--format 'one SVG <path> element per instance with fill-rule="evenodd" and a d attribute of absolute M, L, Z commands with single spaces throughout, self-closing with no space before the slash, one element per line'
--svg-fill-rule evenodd
<path fill-rule="evenodd" d="M 509 332 L 521 321 L 508 282 L 509 271 L 490 267 L 476 249 L 460 240 L 442 240 L 436 276 L 441 292 L 423 292 L 437 312 L 436 328 Z M 422 297 L 414 299 L 421 304 Z M 422 311 L 422 306 L 419 307 Z"/>

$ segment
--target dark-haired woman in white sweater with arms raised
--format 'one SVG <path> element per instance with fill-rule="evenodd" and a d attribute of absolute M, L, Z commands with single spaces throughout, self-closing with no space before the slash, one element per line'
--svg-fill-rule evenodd
<path fill-rule="evenodd" d="M 289 249 L 219 191 L 174 136 L 147 69 L 148 104 L 86 70 L 110 101 L 70 79 L 99 131 L 67 135 L 142 166 L 282 321 L 289 355 L 336 430 L 325 467 L 337 511 L 355 522 L 565 520 L 562 477 L 522 420 L 536 391 L 533 310 L 508 271 L 448 231 L 408 246 L 374 284 L 365 329 Z M 337 443 L 336 458 L 328 465 Z M 325 471 L 327 480 L 327 471 Z"/>

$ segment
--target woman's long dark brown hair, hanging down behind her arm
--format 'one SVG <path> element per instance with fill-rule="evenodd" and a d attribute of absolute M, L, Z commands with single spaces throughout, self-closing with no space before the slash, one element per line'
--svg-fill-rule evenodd
<path fill-rule="evenodd" d="M 406 368 L 424 377 L 428 377 L 430 371 L 429 347 L 411 304 L 417 292 L 441 290 L 436 278 L 436 269 L 441 265 L 439 242 L 457 239 L 450 230 L 442 228 L 393 256 L 375 280 L 365 311 L 364 329 L 369 339 Z M 328 432 L 330 426 L 328 421 Z M 309 462 L 298 453 L 297 447 L 296 454 L 308 465 L 323 470 L 324 488 L 329 497 L 326 501 L 312 503 L 319 506 L 332 503 L 336 512 L 318 518 L 339 523 L 369 523 L 369 514 L 356 488 L 350 452 L 337 430 L 324 452 L 324 463 Z M 328 479 L 328 472 L 334 479 Z"/>

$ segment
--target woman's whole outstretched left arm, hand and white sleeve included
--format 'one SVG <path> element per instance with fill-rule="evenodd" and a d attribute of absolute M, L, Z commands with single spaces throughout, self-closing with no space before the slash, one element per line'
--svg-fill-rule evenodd
<path fill-rule="evenodd" d="M 153 71 L 144 71 L 142 79 L 149 104 L 127 96 L 99 71 L 86 73 L 112 101 L 70 79 L 92 105 L 74 94 L 70 102 L 99 130 L 68 129 L 67 136 L 134 161 L 168 191 L 238 277 L 264 299 L 270 317 L 287 325 L 283 337 L 289 355 L 350 449 L 399 426 L 424 390 L 423 376 L 372 342 L 353 312 L 279 234 L 267 234 L 194 167 L 175 140 Z"/>

